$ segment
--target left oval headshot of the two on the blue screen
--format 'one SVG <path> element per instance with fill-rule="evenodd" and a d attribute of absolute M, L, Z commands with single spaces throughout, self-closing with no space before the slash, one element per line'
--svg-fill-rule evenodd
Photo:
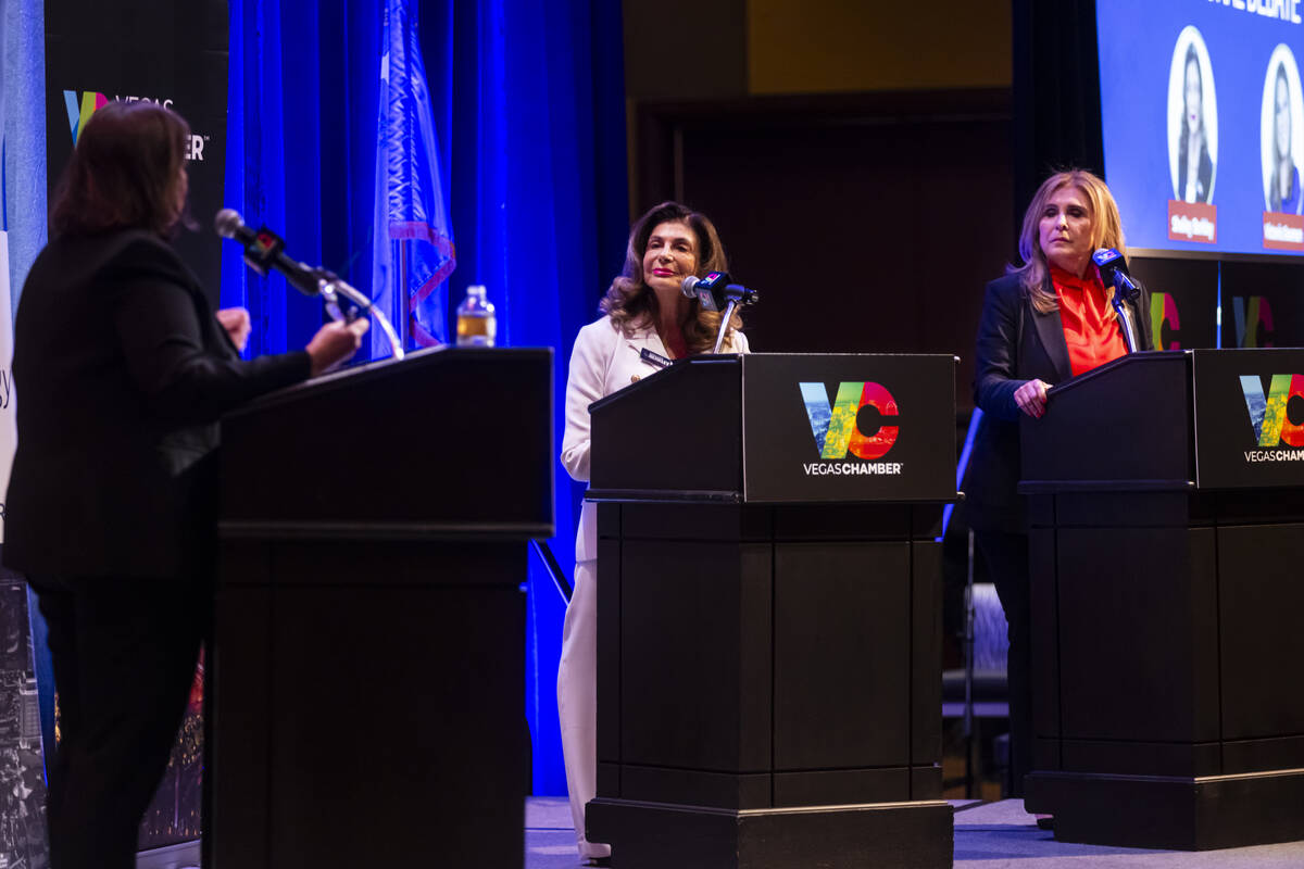
<path fill-rule="evenodd" d="M 1168 169 L 1174 199 L 1213 202 L 1218 99 L 1209 50 L 1192 26 L 1178 35 L 1168 69 Z"/>

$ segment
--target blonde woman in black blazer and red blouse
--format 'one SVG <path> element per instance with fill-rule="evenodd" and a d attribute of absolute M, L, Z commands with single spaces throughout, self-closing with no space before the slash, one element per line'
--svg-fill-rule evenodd
<path fill-rule="evenodd" d="M 1024 264 L 987 284 L 978 327 L 974 404 L 983 412 L 965 479 L 966 509 L 1009 621 L 1012 795 L 1031 769 L 1028 508 L 1017 492 L 1018 420 L 1054 413 L 1046 391 L 1125 350 L 1121 326 L 1091 262 L 1127 253 L 1119 208 L 1090 172 L 1047 178 L 1024 214 Z M 1145 292 L 1128 305 L 1138 347 L 1150 349 Z M 1072 348 L 1069 341 L 1072 340 Z"/>

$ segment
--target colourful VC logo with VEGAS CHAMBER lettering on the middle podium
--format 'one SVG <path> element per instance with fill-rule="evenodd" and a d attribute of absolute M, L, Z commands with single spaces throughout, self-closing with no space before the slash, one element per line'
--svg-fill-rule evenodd
<path fill-rule="evenodd" d="M 803 464 L 806 476 L 900 474 L 901 463 L 879 461 L 896 444 L 900 412 L 882 383 L 842 382 L 829 403 L 823 383 L 801 383 L 806 417 L 822 461 Z M 848 459 L 848 453 L 859 461 Z"/>

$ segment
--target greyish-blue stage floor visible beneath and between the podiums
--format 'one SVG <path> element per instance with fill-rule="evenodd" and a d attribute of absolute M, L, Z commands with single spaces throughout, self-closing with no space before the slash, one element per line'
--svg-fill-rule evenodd
<path fill-rule="evenodd" d="M 956 803 L 955 865 L 965 869 L 1300 869 L 1304 842 L 1265 844 L 1224 851 L 1145 851 L 1055 842 L 1024 812 L 1022 800 Z M 529 797 L 526 803 L 524 869 L 574 869 L 584 862 L 575 853 L 570 806 L 561 797 Z M 614 862 L 619 869 L 619 859 Z M 468 869 L 471 869 L 468 866 Z M 794 866 L 793 869 L 802 869 Z"/>

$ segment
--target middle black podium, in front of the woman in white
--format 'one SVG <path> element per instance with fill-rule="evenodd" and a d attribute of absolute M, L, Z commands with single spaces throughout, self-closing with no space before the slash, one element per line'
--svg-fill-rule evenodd
<path fill-rule="evenodd" d="M 955 377 L 951 356 L 708 356 L 591 405 L 587 834 L 612 865 L 952 865 Z"/>

